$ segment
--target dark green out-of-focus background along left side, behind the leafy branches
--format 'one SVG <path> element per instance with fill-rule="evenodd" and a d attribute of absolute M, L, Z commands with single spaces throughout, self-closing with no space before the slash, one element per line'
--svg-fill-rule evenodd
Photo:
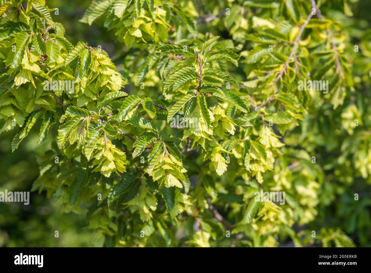
<path fill-rule="evenodd" d="M 59 9 L 59 14 L 51 12 L 52 18 L 66 29 L 65 37 L 73 44 L 79 41 L 88 42 L 90 46 L 101 45 L 110 56 L 114 56 L 115 37 L 107 32 L 101 23 L 92 26 L 80 23 L 83 11 L 90 0 L 47 1 L 47 6 Z M 3 63 L 0 73 L 4 72 Z M 53 136 L 57 135 L 54 127 L 48 139 L 36 145 L 39 132 L 36 124 L 24 139 L 22 145 L 12 153 L 11 143 L 15 131 L 0 135 L 0 191 L 30 191 L 33 181 L 39 175 L 37 156 L 50 148 Z M 0 246 L 7 247 L 86 247 L 92 246 L 91 231 L 85 229 L 83 214 L 61 214 L 53 206 L 53 198 L 47 199 L 46 192 L 30 192 L 30 204 L 0 203 Z M 58 230 L 59 237 L 55 237 Z"/>

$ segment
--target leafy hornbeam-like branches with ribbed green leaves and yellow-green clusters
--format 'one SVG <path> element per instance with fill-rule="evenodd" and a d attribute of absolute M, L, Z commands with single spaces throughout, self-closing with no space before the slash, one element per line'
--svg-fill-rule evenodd
<path fill-rule="evenodd" d="M 93 1 L 114 62 L 45 1 L 0 3 L 0 133 L 50 135 L 32 191 L 93 245 L 369 246 L 370 33 L 347 1 Z"/>

